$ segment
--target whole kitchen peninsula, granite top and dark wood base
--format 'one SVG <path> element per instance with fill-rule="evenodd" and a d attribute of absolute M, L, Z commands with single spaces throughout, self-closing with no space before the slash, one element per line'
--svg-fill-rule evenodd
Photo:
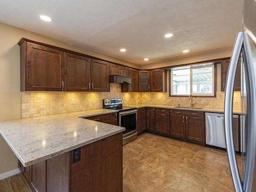
<path fill-rule="evenodd" d="M 0 122 L 34 191 L 122 191 L 123 127 L 80 117 L 90 110 Z"/>

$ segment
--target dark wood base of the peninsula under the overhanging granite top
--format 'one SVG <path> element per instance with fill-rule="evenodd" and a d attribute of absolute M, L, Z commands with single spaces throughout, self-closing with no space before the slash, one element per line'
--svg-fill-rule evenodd
<path fill-rule="evenodd" d="M 80 160 L 72 164 L 72 151 L 29 167 L 19 168 L 38 192 L 122 191 L 122 133 L 80 148 Z"/>

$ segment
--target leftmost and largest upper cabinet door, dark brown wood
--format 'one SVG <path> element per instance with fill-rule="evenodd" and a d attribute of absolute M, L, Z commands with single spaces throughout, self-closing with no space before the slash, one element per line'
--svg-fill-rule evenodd
<path fill-rule="evenodd" d="M 64 91 L 63 51 L 27 42 L 26 91 Z"/>

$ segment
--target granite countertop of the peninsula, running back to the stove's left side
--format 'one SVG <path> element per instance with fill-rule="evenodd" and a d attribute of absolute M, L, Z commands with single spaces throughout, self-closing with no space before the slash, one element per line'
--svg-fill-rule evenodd
<path fill-rule="evenodd" d="M 118 110 L 98 109 L 0 122 L 0 133 L 24 166 L 50 159 L 123 132 L 120 126 L 79 117 Z"/>

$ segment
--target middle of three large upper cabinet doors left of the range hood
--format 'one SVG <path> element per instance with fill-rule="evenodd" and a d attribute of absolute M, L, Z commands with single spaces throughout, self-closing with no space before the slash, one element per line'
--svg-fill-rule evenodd
<path fill-rule="evenodd" d="M 90 91 L 91 64 L 88 57 L 65 53 L 66 91 Z"/>

